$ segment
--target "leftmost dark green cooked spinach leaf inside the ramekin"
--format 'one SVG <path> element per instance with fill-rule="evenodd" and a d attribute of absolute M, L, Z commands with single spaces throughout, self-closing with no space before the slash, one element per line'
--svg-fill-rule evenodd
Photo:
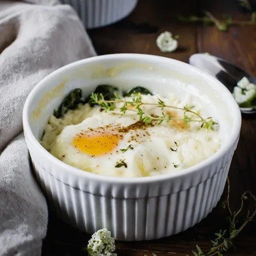
<path fill-rule="evenodd" d="M 82 101 L 82 90 L 72 90 L 61 102 L 60 106 L 54 110 L 53 115 L 56 118 L 60 118 L 67 113 L 68 110 L 74 110 Z"/>

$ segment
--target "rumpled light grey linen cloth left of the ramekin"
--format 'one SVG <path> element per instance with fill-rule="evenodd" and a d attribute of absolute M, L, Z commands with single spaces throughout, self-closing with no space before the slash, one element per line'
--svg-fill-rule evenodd
<path fill-rule="evenodd" d="M 24 102 L 46 75 L 96 53 L 75 11 L 56 0 L 1 0 L 0 34 L 0 255 L 37 256 L 48 210 L 22 133 Z"/>

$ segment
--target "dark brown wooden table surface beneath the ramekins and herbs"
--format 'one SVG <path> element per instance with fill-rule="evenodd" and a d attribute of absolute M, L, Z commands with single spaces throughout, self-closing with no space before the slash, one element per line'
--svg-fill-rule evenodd
<path fill-rule="evenodd" d="M 140 0 L 133 13 L 114 25 L 89 31 L 99 55 L 110 53 L 145 53 L 179 59 L 187 62 L 189 56 L 208 52 L 223 57 L 245 68 L 256 76 L 256 26 L 236 26 L 228 32 L 216 27 L 185 24 L 177 21 L 177 15 L 200 14 L 202 9 L 221 18 L 230 14 L 237 20 L 250 18 L 241 10 L 237 0 L 174 1 Z M 156 38 L 163 31 L 180 35 L 179 48 L 173 53 L 161 53 Z M 236 209 L 241 194 L 250 190 L 256 194 L 256 119 L 242 117 L 242 130 L 237 151 L 229 170 L 230 203 Z M 225 192 L 223 199 L 225 198 Z M 210 247 L 214 233 L 225 229 L 226 211 L 220 204 L 203 221 L 175 236 L 145 242 L 117 242 L 118 255 L 157 256 L 193 255 L 191 251 L 199 244 L 202 249 Z M 42 256 L 84 255 L 81 248 L 87 245 L 89 236 L 57 219 L 50 213 L 49 229 L 42 246 Z M 236 250 L 225 255 L 256 255 L 256 224 L 251 221 L 236 240 Z"/>

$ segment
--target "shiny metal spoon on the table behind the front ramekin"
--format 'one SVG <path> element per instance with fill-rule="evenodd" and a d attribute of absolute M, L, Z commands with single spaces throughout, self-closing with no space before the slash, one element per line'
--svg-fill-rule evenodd
<path fill-rule="evenodd" d="M 224 59 L 209 54 L 193 54 L 189 58 L 189 64 L 217 78 L 231 93 L 233 92 L 234 87 L 237 86 L 237 82 L 244 76 L 247 77 L 251 83 L 256 84 L 256 78 L 251 76 L 245 70 Z M 240 108 L 240 110 L 242 113 L 252 114 L 256 113 L 256 106 L 251 108 Z"/>

